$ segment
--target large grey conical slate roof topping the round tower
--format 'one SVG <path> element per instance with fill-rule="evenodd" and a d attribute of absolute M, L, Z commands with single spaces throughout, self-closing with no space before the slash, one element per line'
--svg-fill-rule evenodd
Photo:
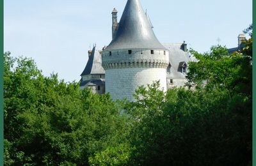
<path fill-rule="evenodd" d="M 106 50 L 164 49 L 157 40 L 140 0 L 128 0 L 120 19 L 116 37 Z"/>

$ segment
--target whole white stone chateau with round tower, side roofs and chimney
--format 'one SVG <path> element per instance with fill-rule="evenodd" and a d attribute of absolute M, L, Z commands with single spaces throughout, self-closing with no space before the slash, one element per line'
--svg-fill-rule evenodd
<path fill-rule="evenodd" d="M 110 93 L 116 99 L 133 101 L 138 86 L 147 86 L 159 80 L 166 91 L 184 86 L 191 57 L 183 43 L 161 44 L 154 34 L 152 23 L 140 0 L 128 0 L 117 20 L 118 11 L 112 11 L 112 40 L 102 52 L 93 47 L 81 74 L 81 89 Z"/>

